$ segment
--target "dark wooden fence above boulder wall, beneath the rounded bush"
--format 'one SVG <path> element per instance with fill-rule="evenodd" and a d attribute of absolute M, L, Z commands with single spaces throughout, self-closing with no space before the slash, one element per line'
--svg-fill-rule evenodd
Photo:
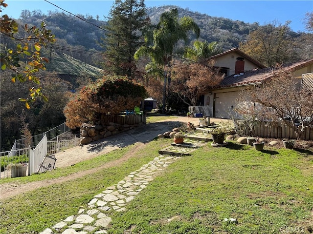
<path fill-rule="evenodd" d="M 109 125 L 109 123 L 115 124 L 140 124 L 140 123 L 147 123 L 147 115 L 110 115 L 110 116 L 102 116 L 101 123 L 102 125 Z"/>

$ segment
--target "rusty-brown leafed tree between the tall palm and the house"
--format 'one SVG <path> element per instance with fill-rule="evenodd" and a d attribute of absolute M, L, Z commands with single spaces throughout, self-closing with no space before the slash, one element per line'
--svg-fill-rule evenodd
<path fill-rule="evenodd" d="M 171 90 L 184 103 L 196 106 L 198 99 L 224 78 L 213 65 L 212 60 L 208 62 L 208 66 L 175 60 L 170 69 Z"/>

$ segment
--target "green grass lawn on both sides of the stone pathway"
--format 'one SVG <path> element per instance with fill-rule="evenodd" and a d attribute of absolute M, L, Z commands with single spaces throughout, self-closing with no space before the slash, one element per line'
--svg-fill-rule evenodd
<path fill-rule="evenodd" d="M 2 200 L 0 233 L 38 233 L 77 215 L 81 205 L 152 160 L 170 142 L 154 140 L 118 166 Z M 132 149 L 82 162 L 82 168 Z M 63 170 L 69 169 L 56 169 L 56 175 Z M 237 142 L 215 148 L 207 143 L 168 166 L 126 208 L 110 215 L 109 233 L 313 233 L 313 153 L 268 146 L 259 152 Z"/>

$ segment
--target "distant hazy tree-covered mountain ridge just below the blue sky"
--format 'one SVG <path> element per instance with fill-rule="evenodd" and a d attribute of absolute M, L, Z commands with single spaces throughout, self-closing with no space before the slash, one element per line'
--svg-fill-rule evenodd
<path fill-rule="evenodd" d="M 222 50 L 238 46 L 240 41 L 246 39 L 249 32 L 259 27 L 257 23 L 249 24 L 221 17 L 211 17 L 173 5 L 150 7 L 147 8 L 146 12 L 151 22 L 156 24 L 160 15 L 171 8 L 178 8 L 180 17 L 190 16 L 193 18 L 201 29 L 200 39 L 205 39 L 209 42 L 218 41 L 219 47 Z M 21 20 L 21 23 L 28 23 L 30 25 L 39 25 L 42 20 L 45 20 L 48 29 L 52 30 L 61 45 L 83 46 L 87 51 L 90 49 L 102 51 L 103 49 L 99 43 L 101 43 L 101 38 L 105 37 L 106 31 L 101 28 L 103 28 L 106 22 L 95 20 L 92 16 L 85 18 L 79 15 L 79 17 L 89 23 L 60 12 L 50 12 L 48 15 L 33 15 L 30 13 L 29 17 L 19 20 Z M 191 41 L 193 39 L 191 38 Z"/>

